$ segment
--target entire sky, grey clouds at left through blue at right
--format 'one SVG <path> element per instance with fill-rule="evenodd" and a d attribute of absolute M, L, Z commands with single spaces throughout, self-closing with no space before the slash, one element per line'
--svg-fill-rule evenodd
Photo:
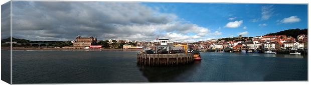
<path fill-rule="evenodd" d="M 305 29 L 307 5 L 13 1 L 12 25 L 13 37 L 28 40 L 71 41 L 80 35 L 195 42 Z"/>

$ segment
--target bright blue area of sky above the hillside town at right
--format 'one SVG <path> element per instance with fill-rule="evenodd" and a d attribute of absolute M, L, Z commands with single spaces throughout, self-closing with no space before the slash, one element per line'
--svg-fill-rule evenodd
<path fill-rule="evenodd" d="M 143 3 L 165 13 L 174 13 L 191 23 L 209 28 L 211 31 L 220 31 L 217 37 L 238 36 L 247 31 L 247 35 L 258 36 L 286 29 L 307 28 L 306 4 L 236 4 L 236 3 Z M 263 10 L 266 8 L 265 10 Z M 262 12 L 268 12 L 269 18 L 261 20 Z M 299 21 L 293 23 L 279 22 L 284 18 L 297 16 Z M 235 18 L 229 20 L 229 18 Z M 258 19 L 258 21 L 253 21 Z M 225 25 L 231 21 L 243 23 L 236 28 Z M 261 26 L 259 26 L 261 24 Z M 266 24 L 266 25 L 262 25 Z M 246 29 L 243 29 L 243 27 Z"/>

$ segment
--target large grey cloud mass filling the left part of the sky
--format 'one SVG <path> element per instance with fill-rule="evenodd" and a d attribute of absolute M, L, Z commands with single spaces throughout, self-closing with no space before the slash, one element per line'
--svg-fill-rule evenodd
<path fill-rule="evenodd" d="M 77 35 L 152 40 L 165 37 L 160 35 L 165 32 L 202 36 L 209 32 L 135 2 L 15 1 L 13 5 L 13 36 L 30 40 L 67 41 Z"/>

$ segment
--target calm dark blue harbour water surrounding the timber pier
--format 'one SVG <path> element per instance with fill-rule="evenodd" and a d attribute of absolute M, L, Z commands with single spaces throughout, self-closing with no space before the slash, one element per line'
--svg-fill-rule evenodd
<path fill-rule="evenodd" d="M 137 52 L 14 51 L 13 84 L 306 81 L 300 55 L 201 53 L 179 67 L 139 67 Z"/>

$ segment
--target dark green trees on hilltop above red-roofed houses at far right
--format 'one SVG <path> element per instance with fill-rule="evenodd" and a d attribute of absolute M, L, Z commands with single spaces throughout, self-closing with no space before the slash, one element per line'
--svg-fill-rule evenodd
<path fill-rule="evenodd" d="M 298 35 L 300 34 L 308 34 L 308 29 L 288 29 L 288 30 L 284 30 L 284 31 L 279 31 L 279 32 L 275 32 L 275 33 L 269 33 L 266 35 L 286 35 L 286 36 L 291 36 L 296 38 Z M 296 39 L 297 40 L 297 39 Z"/>

